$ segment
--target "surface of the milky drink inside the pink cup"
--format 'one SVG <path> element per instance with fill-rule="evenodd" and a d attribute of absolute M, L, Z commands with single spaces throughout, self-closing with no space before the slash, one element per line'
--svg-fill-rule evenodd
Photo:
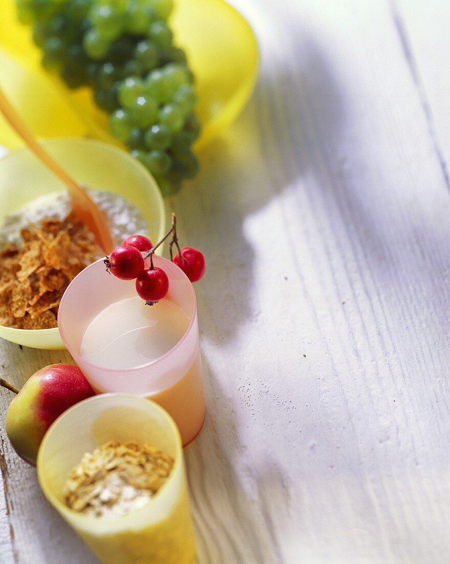
<path fill-rule="evenodd" d="M 139 296 L 122 299 L 88 325 L 81 356 L 101 368 L 134 368 L 166 354 L 188 326 L 188 315 L 168 299 L 153 306 Z"/>

